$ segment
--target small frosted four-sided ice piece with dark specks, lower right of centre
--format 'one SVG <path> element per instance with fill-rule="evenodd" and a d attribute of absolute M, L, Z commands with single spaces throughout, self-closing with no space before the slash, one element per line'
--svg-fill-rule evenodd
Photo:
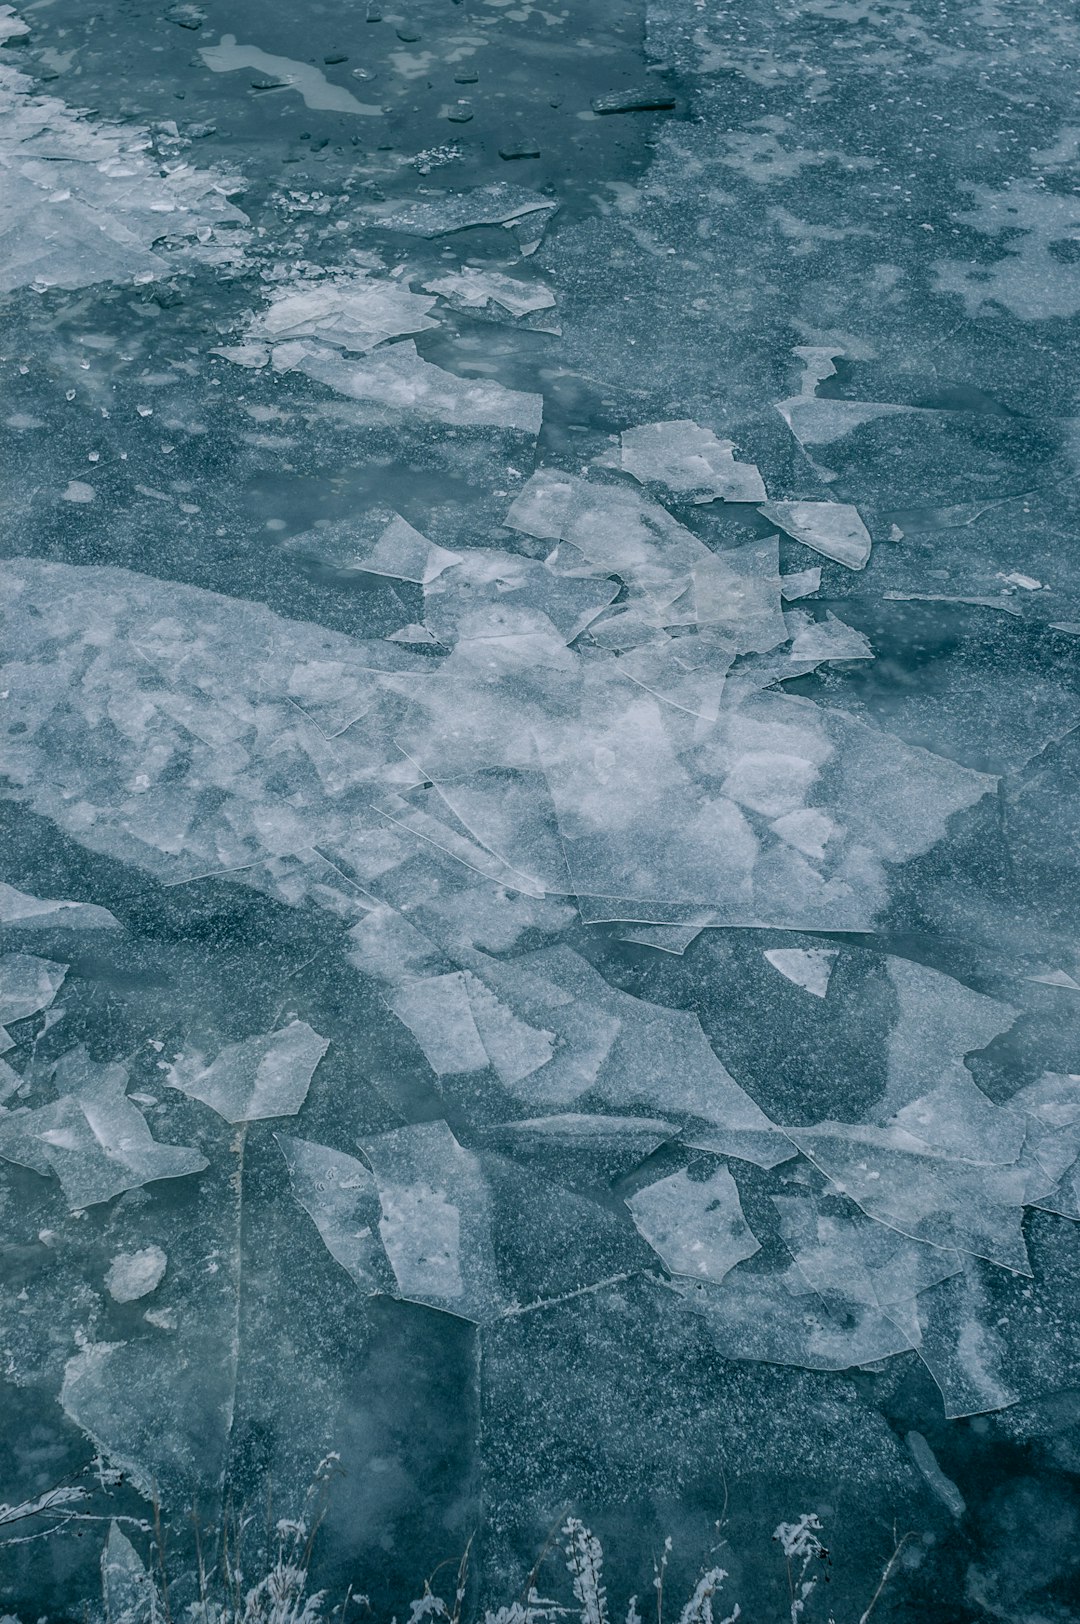
<path fill-rule="evenodd" d="M 721 1281 L 762 1249 L 728 1168 L 708 1179 L 692 1179 L 684 1168 L 627 1197 L 627 1207 L 672 1275 Z"/>

